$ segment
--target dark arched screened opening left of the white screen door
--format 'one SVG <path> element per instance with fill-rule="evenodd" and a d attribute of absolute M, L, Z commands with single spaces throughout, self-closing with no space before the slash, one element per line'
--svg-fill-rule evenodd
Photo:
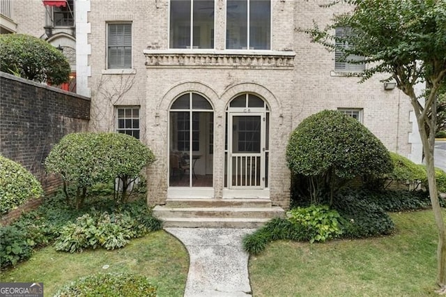
<path fill-rule="evenodd" d="M 199 93 L 174 100 L 169 111 L 169 187 L 213 187 L 214 112 Z"/>

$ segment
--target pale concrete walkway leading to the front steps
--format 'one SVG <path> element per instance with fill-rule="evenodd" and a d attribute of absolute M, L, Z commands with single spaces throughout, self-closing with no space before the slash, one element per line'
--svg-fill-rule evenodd
<path fill-rule="evenodd" d="M 190 257 L 185 297 L 252 296 L 242 238 L 255 229 L 165 228 Z"/>

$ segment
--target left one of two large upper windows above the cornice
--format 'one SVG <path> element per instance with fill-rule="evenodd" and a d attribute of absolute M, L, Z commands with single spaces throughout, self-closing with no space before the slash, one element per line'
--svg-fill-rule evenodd
<path fill-rule="evenodd" d="M 170 47 L 214 48 L 214 0 L 170 1 Z"/>

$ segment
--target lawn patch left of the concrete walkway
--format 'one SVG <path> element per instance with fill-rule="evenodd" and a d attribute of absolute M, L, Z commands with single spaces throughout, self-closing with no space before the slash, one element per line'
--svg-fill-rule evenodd
<path fill-rule="evenodd" d="M 109 268 L 102 268 L 109 265 Z M 189 267 L 184 246 L 164 231 L 132 239 L 121 250 L 56 252 L 52 246 L 38 250 L 17 267 L 2 271 L 1 282 L 43 282 L 45 296 L 71 280 L 93 273 L 127 272 L 148 277 L 157 295 L 183 296 Z"/>

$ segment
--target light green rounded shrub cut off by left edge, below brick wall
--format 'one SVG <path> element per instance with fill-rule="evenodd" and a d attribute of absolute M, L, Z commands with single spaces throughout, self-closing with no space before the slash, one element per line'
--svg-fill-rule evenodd
<path fill-rule="evenodd" d="M 0 214 L 43 195 L 42 185 L 22 165 L 0 155 Z"/>

